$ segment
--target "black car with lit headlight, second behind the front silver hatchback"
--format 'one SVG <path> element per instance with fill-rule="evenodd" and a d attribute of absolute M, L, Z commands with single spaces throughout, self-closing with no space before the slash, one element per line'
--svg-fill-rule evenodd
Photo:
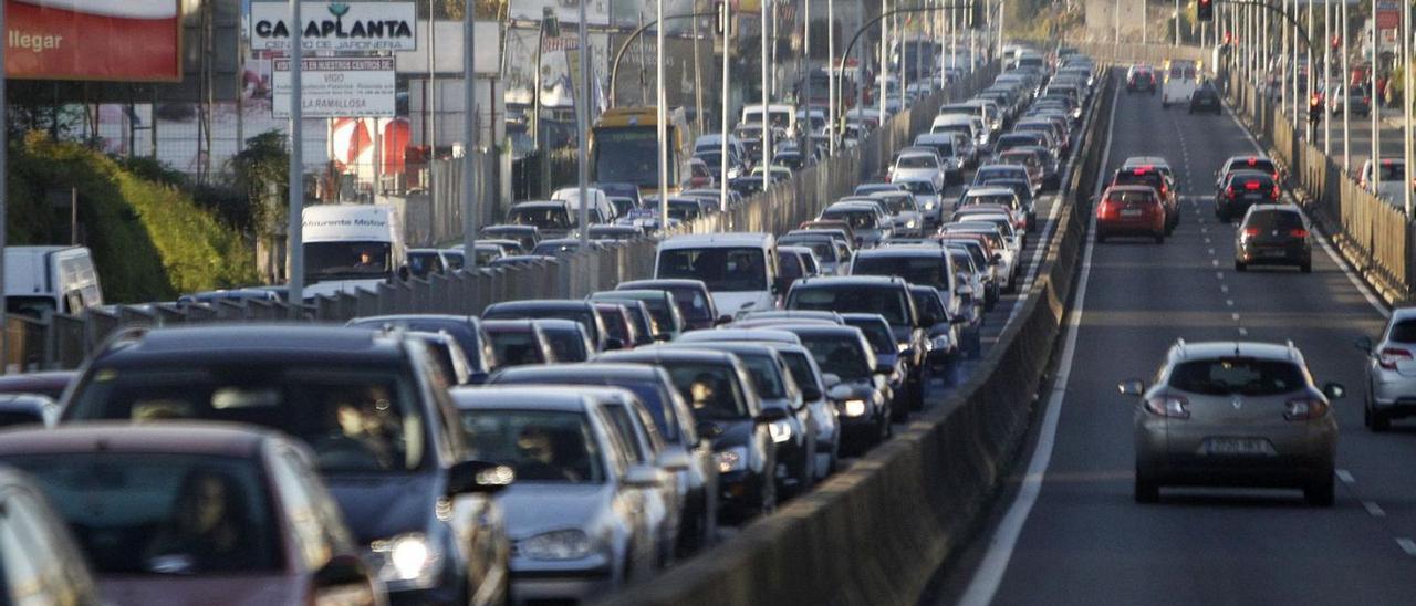
<path fill-rule="evenodd" d="M 742 360 L 724 351 L 654 345 L 600 354 L 595 361 L 654 364 L 668 371 L 692 411 L 698 435 L 712 440 L 721 520 L 776 510 L 777 445 L 769 426 L 786 416 L 762 408 Z"/>

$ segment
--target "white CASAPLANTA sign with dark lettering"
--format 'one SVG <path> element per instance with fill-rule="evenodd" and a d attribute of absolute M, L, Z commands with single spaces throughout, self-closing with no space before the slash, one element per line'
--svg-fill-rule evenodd
<path fill-rule="evenodd" d="M 412 51 L 418 48 L 413 3 L 300 3 L 300 45 L 310 51 Z M 290 48 L 290 8 L 283 1 L 251 3 L 251 47 Z"/>

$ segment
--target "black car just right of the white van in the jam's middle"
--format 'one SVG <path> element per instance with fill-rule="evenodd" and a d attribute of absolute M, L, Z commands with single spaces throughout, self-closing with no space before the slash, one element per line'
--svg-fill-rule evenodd
<path fill-rule="evenodd" d="M 947 259 L 940 263 L 947 268 Z M 947 273 L 944 276 L 947 279 Z M 903 411 L 893 411 L 903 419 L 919 398 L 919 370 L 925 361 L 925 328 L 920 326 L 915 302 L 909 296 L 909 282 L 898 276 L 841 276 L 807 278 L 787 290 L 783 309 L 821 310 L 840 313 L 878 313 L 895 333 L 895 344 L 903 358 L 903 394 L 895 398 Z"/>

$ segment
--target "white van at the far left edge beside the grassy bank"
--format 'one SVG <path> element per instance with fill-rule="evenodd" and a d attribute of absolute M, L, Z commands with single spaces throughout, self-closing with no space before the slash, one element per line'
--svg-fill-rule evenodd
<path fill-rule="evenodd" d="M 103 304 L 93 255 L 85 246 L 6 246 L 6 311 L 37 319 L 76 316 Z"/>

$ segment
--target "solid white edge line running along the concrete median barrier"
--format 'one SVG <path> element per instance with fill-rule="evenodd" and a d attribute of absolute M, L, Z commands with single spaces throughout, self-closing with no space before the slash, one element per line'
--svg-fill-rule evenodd
<path fill-rule="evenodd" d="M 1112 157 L 1112 132 L 1116 129 L 1116 102 L 1120 101 L 1120 96 L 1121 91 L 1116 89 L 1112 96 L 1112 116 L 1106 125 L 1106 149 L 1102 152 L 1102 168 L 1096 180 L 1095 194 L 1102 193 L 1106 166 Z M 1087 221 L 1087 234 L 1095 232 L 1096 215 L 1093 214 Z M 1048 409 L 1042 418 L 1042 428 L 1038 430 L 1038 446 L 1032 450 L 1027 476 L 1022 480 L 1022 486 L 1018 487 L 1018 497 L 1008 505 L 1008 513 L 1004 514 L 1003 521 L 998 522 L 998 530 L 994 531 L 993 538 L 988 541 L 988 552 L 984 554 L 973 579 L 969 581 L 969 588 L 964 590 L 963 598 L 959 599 L 959 605 L 961 606 L 987 606 L 993 602 L 993 596 L 998 593 L 998 585 L 1003 583 L 1003 575 L 1008 571 L 1012 549 L 1018 545 L 1018 538 L 1022 537 L 1022 527 L 1028 522 L 1032 505 L 1038 503 L 1038 494 L 1042 493 L 1042 479 L 1052 463 L 1052 446 L 1056 443 L 1058 421 L 1062 416 L 1062 399 L 1066 396 L 1068 381 L 1072 377 L 1072 358 L 1076 357 L 1076 337 L 1080 331 L 1082 313 L 1086 306 L 1086 286 L 1092 276 L 1092 253 L 1095 249 L 1096 238 L 1086 238 L 1086 252 L 1082 255 L 1082 276 L 1076 283 L 1076 307 L 1072 309 L 1072 313 L 1063 323 L 1066 344 L 1062 345 L 1058 375 L 1052 384 L 1052 394 L 1048 396 Z"/>

